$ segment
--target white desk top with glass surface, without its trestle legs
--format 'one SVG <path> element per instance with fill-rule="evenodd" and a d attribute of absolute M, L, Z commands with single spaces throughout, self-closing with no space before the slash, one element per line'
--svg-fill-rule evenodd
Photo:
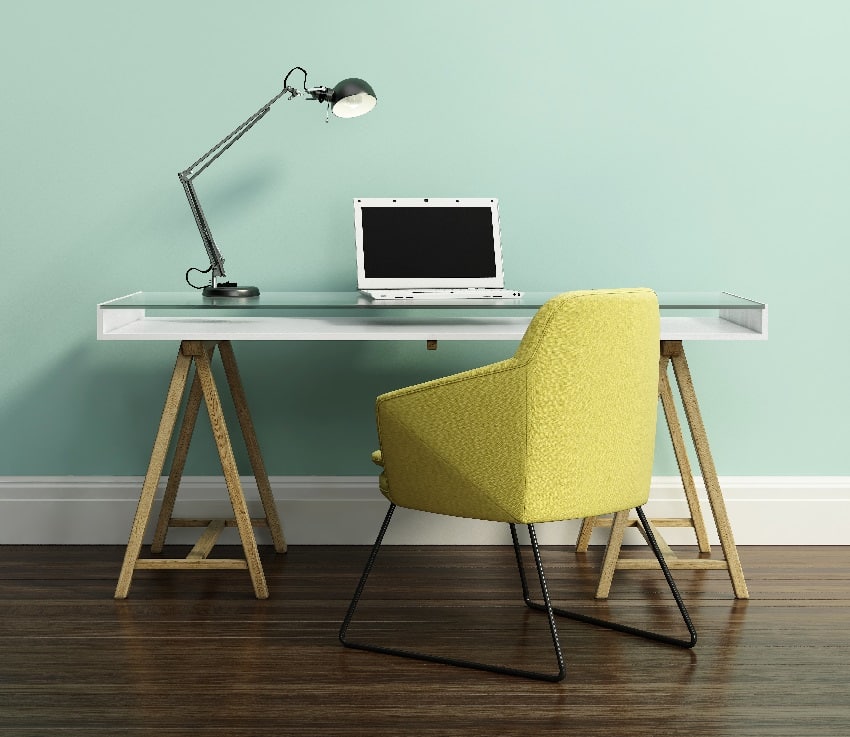
<path fill-rule="evenodd" d="M 519 340 L 554 293 L 373 302 L 357 292 L 205 299 L 136 292 L 97 306 L 98 340 Z M 663 340 L 764 340 L 767 306 L 724 292 L 658 293 Z"/>

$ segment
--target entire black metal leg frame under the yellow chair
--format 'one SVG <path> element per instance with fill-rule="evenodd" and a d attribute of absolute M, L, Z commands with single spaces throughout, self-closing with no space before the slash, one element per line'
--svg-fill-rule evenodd
<path fill-rule="evenodd" d="M 584 614 L 579 614 L 577 612 L 569 612 L 564 609 L 559 609 L 557 607 L 552 606 L 551 599 L 549 597 L 548 586 L 546 585 L 546 576 L 543 570 L 543 563 L 540 557 L 540 547 L 537 542 L 537 534 L 534 530 L 534 525 L 528 525 L 528 534 L 529 539 L 531 541 L 531 549 L 534 554 L 534 562 L 535 567 L 537 569 L 537 575 L 540 582 L 540 591 L 543 597 L 543 603 L 539 603 L 533 601 L 531 598 L 531 594 L 529 592 L 528 581 L 525 575 L 525 569 L 522 560 L 522 552 L 519 544 L 519 540 L 517 538 L 516 526 L 514 524 L 510 525 L 511 529 L 511 539 L 513 541 L 514 546 L 514 554 L 516 556 L 517 569 L 519 570 L 520 581 L 522 583 L 522 592 L 523 599 L 525 601 L 526 606 L 530 609 L 534 609 L 536 611 L 544 611 L 546 612 L 548 623 L 549 623 L 549 632 L 552 637 L 552 645 L 555 652 L 555 659 L 558 665 L 558 671 L 556 673 L 547 673 L 540 671 L 532 671 L 525 670 L 521 668 L 511 668 L 509 666 L 503 665 L 495 665 L 490 663 L 481 663 L 477 661 L 464 660 L 462 658 L 448 658 L 440 655 L 431 655 L 428 653 L 420 653 L 414 650 L 404 650 L 401 648 L 391 648 L 384 647 L 382 645 L 373 645 L 364 642 L 356 642 L 348 638 L 348 629 L 351 625 L 351 621 L 354 618 L 355 611 L 357 609 L 357 605 L 360 602 L 360 598 L 363 594 L 363 590 L 366 587 L 366 581 L 369 578 L 369 574 L 372 572 L 374 568 L 375 561 L 378 557 L 378 551 L 381 548 L 381 544 L 383 542 L 384 536 L 386 535 L 387 529 L 390 525 L 390 521 L 393 516 L 393 512 L 395 511 L 395 504 L 391 504 L 390 508 L 387 510 L 387 514 L 384 517 L 384 522 L 381 525 L 381 529 L 378 532 L 378 537 L 375 540 L 375 544 L 372 546 L 371 553 L 369 555 L 369 559 L 366 562 L 366 566 L 363 570 L 363 574 L 360 577 L 360 581 L 357 584 L 357 588 L 354 592 L 354 596 L 352 597 L 351 603 L 349 604 L 348 611 L 346 612 L 345 619 L 342 622 L 339 630 L 339 640 L 340 642 L 348 648 L 353 648 L 356 650 L 365 650 L 368 652 L 380 653 L 383 655 L 396 655 L 403 658 L 411 658 L 414 660 L 423 660 L 430 663 L 440 663 L 442 665 L 454 665 L 462 668 L 472 668 L 475 670 L 487 671 L 490 673 L 502 673 L 505 675 L 512 676 L 520 676 L 524 678 L 531 678 L 535 680 L 541 681 L 550 681 L 557 682 L 564 679 L 566 676 L 566 668 L 564 666 L 564 657 L 561 651 L 561 645 L 558 638 L 558 630 L 555 624 L 555 615 L 565 617 L 567 619 L 573 619 L 580 622 L 586 622 L 589 624 L 594 624 L 599 627 L 605 627 L 607 629 L 617 630 L 619 632 L 625 632 L 631 635 L 637 635 L 639 637 L 644 637 L 646 639 L 655 640 L 657 642 L 663 642 L 669 645 L 676 645 L 678 647 L 691 648 L 696 644 L 696 630 L 694 629 L 693 623 L 691 622 L 690 616 L 688 615 L 687 609 L 682 601 L 682 598 L 679 594 L 678 589 L 676 588 L 676 584 L 673 581 L 673 577 L 670 574 L 669 569 L 667 568 L 666 563 L 664 562 L 663 555 L 661 554 L 661 550 L 658 547 L 658 543 L 655 541 L 655 538 L 652 536 L 650 532 L 650 540 L 649 544 L 652 548 L 653 552 L 658 558 L 658 562 L 661 564 L 661 569 L 664 572 L 664 576 L 667 580 L 667 584 L 670 587 L 671 592 L 673 593 L 673 598 L 676 600 L 676 604 L 679 608 L 680 613 L 682 614 L 682 618 L 685 622 L 685 625 L 688 628 L 688 632 L 690 633 L 690 639 L 683 640 L 674 637 L 668 637 L 667 635 L 662 635 L 655 632 L 650 632 L 647 630 L 641 630 L 636 627 L 630 627 L 628 625 L 619 624 L 617 622 L 609 622 L 606 620 L 597 619 L 595 617 L 590 617 Z M 638 507 L 637 508 L 638 516 L 641 517 L 641 520 L 644 521 L 644 513 L 643 510 Z M 648 527 L 648 525 L 647 525 Z"/>

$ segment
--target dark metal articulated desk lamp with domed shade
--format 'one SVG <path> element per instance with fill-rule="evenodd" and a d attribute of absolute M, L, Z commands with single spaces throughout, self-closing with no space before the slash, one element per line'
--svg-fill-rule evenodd
<path fill-rule="evenodd" d="M 289 85 L 289 76 L 294 72 L 299 71 L 304 75 L 303 89 L 297 90 Z M 215 146 L 207 151 L 194 164 L 184 169 L 177 176 L 183 184 L 183 189 L 186 191 L 186 197 L 189 200 L 189 207 L 192 209 L 192 214 L 195 216 L 195 222 L 198 225 L 198 230 L 201 233 L 201 240 L 204 242 L 204 248 L 207 251 L 207 256 L 210 259 L 208 269 L 201 271 L 200 269 L 191 268 L 186 272 L 187 283 L 195 287 L 195 289 L 203 289 L 205 297 L 256 297 L 260 290 L 257 287 L 239 286 L 234 282 L 218 283 L 220 277 L 225 276 L 224 273 L 224 258 L 218 250 L 215 241 L 213 240 L 210 226 L 204 216 L 204 211 L 201 209 L 201 203 L 198 200 L 198 195 L 195 192 L 193 182 L 200 176 L 207 167 L 212 164 L 219 156 L 229 149 L 236 141 L 238 141 L 245 133 L 247 133 L 259 120 L 284 95 L 288 95 L 287 99 L 292 100 L 301 94 L 307 95 L 308 100 L 316 100 L 318 102 L 327 103 L 327 113 L 325 122 L 330 119 L 330 113 L 333 112 L 338 118 L 356 118 L 359 115 L 368 113 L 378 99 L 375 92 L 369 86 L 368 82 L 355 77 L 344 79 L 337 84 L 333 89 L 327 87 L 307 87 L 307 72 L 301 67 L 292 67 L 283 80 L 283 89 L 263 105 L 256 113 L 254 113 L 242 125 L 237 127 L 231 133 L 228 133 Z M 198 287 L 189 281 L 189 273 L 197 271 L 200 274 L 210 274 L 210 283 L 205 287 Z"/>

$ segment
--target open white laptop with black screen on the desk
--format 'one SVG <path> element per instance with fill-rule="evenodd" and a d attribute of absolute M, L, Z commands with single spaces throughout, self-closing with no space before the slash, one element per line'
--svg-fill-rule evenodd
<path fill-rule="evenodd" d="M 514 298 L 505 289 L 499 202 L 354 200 L 357 288 L 372 299 Z"/>

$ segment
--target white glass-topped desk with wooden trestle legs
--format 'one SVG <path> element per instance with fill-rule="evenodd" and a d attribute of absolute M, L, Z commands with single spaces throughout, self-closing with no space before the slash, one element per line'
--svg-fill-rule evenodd
<path fill-rule="evenodd" d="M 207 299 L 181 293 L 136 292 L 97 306 L 98 340 L 154 340 L 180 343 L 165 407 L 154 440 L 154 449 L 139 505 L 130 532 L 116 598 L 129 592 L 133 572 L 142 568 L 242 568 L 247 569 L 258 598 L 268 596 L 260 565 L 254 526 L 267 526 L 275 549 L 286 550 L 283 531 L 254 433 L 244 389 L 239 377 L 231 341 L 242 340 L 415 340 L 436 348 L 440 340 L 510 340 L 522 338 L 528 323 L 540 306 L 554 293 L 534 292 L 519 299 L 476 299 L 446 301 L 395 300 L 373 302 L 357 292 L 267 292 L 251 299 Z M 700 550 L 708 549 L 705 525 L 699 510 L 693 476 L 684 452 L 681 424 L 667 381 L 672 362 L 694 439 L 703 479 L 717 524 L 724 553 L 723 561 L 673 561 L 671 567 L 723 567 L 729 571 L 735 595 L 746 598 L 741 564 L 738 560 L 723 495 L 711 460 L 705 429 L 696 403 L 693 382 L 687 369 L 682 342 L 687 340 L 758 340 L 767 336 L 767 307 L 743 297 L 723 293 L 659 293 L 661 306 L 661 363 L 659 390 L 665 417 L 673 439 L 691 517 L 681 521 L 654 520 L 653 525 L 676 524 L 694 527 Z M 236 406 L 242 435 L 260 490 L 265 517 L 251 519 L 239 481 L 230 436 L 221 409 L 220 395 L 211 371 L 215 350 L 221 354 L 230 395 Z M 180 406 L 189 386 L 192 364 L 195 373 L 188 392 L 179 436 L 162 508 L 151 549 L 160 552 L 169 527 L 204 527 L 200 540 L 186 559 L 140 557 L 154 495 L 171 445 Z M 231 520 L 193 520 L 172 517 L 183 465 L 201 402 L 204 401 L 221 459 L 228 494 L 233 505 Z M 579 535 L 579 550 L 586 549 L 595 526 L 610 525 L 611 539 L 603 563 L 597 596 L 607 596 L 616 568 L 636 567 L 641 561 L 620 561 L 622 531 L 629 524 L 619 515 L 614 520 L 585 520 Z M 208 555 L 223 527 L 238 528 L 244 559 L 215 559 Z M 646 562 L 646 567 L 653 564 Z M 655 564 L 657 565 L 657 564 Z M 607 583 L 606 583 L 607 582 Z"/>

